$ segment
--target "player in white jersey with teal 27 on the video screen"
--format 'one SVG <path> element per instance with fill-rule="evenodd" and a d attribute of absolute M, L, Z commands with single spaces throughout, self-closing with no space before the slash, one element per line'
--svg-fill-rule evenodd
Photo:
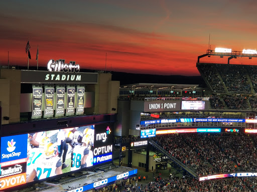
<path fill-rule="evenodd" d="M 44 146 L 42 158 L 35 161 L 34 169 L 27 177 L 27 182 L 31 182 L 37 177 L 39 180 L 62 174 L 62 160 L 58 156 L 57 146 L 48 142 Z"/>

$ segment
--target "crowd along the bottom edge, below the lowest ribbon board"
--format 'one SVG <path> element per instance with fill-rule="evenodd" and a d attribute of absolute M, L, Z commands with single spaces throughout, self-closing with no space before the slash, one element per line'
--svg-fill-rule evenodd
<path fill-rule="evenodd" d="M 125 191 L 140 192 L 249 192 L 257 191 L 257 180 L 254 177 L 227 178 L 198 181 L 193 178 L 157 178 L 145 186 L 133 182 L 125 185 Z"/>

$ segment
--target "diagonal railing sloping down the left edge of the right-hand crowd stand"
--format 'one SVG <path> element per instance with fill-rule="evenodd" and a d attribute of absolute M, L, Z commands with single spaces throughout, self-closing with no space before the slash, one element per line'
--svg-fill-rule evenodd
<path fill-rule="evenodd" d="M 168 156 L 172 161 L 174 161 L 177 165 L 182 167 L 184 170 L 186 170 L 189 174 L 191 174 L 194 178 L 199 178 L 196 172 L 194 172 L 191 168 L 188 166 L 184 165 L 180 160 L 172 156 L 170 153 L 168 153 L 166 150 L 163 149 L 159 144 L 157 144 L 154 140 L 149 138 L 149 142 L 156 147 L 158 150 L 160 150 L 162 153 L 164 153 L 166 156 Z"/>

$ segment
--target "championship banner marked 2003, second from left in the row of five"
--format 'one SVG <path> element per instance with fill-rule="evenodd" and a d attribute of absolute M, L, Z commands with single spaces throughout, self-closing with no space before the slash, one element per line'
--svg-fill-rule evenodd
<path fill-rule="evenodd" d="M 45 112 L 44 116 L 54 115 L 54 87 L 45 87 Z"/>

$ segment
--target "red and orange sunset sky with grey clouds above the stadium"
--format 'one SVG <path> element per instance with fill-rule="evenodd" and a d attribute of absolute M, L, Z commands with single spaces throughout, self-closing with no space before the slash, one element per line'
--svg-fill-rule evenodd
<path fill-rule="evenodd" d="M 25 3 L 26 2 L 26 3 Z M 197 56 L 215 47 L 257 49 L 256 0 L 5 0 L 0 5 L 2 65 L 50 59 L 81 68 L 200 75 Z M 227 57 L 200 61 L 226 63 Z M 257 58 L 230 63 L 255 64 Z"/>

